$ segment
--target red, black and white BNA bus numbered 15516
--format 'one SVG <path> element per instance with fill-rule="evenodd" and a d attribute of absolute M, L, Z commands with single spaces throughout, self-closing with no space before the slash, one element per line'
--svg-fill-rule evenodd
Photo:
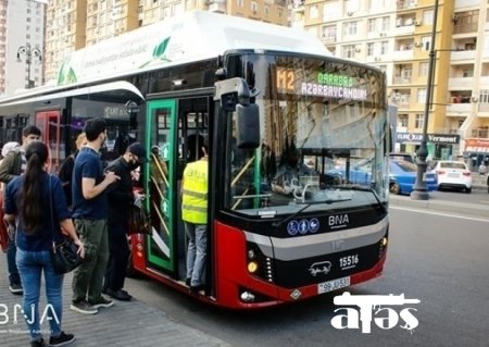
<path fill-rule="evenodd" d="M 158 147 L 141 168 L 152 231 L 131 235 L 133 267 L 186 293 L 179 190 L 208 137 L 205 288 L 196 298 L 261 308 L 383 271 L 385 75 L 331 57 L 304 32 L 192 12 L 74 52 L 53 86 L 0 100 L 0 116 L 2 141 L 28 122 L 43 127 L 53 171 L 92 116 L 109 124 L 106 160 L 134 140 Z M 331 174 L 359 168 L 363 185 Z"/>

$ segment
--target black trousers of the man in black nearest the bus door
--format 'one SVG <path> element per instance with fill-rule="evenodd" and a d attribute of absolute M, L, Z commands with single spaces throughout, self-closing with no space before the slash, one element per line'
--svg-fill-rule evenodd
<path fill-rule="evenodd" d="M 117 292 L 124 287 L 127 261 L 129 259 L 129 245 L 127 241 L 127 222 L 125 219 L 109 222 L 109 264 L 105 272 L 103 287 Z"/>

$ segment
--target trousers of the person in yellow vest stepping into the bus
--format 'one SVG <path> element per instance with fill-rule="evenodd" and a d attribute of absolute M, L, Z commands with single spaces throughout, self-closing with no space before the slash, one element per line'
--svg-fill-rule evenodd
<path fill-rule="evenodd" d="M 185 232 L 189 239 L 187 250 L 187 278 L 190 286 L 203 284 L 205 258 L 208 253 L 208 226 L 185 222 Z"/>

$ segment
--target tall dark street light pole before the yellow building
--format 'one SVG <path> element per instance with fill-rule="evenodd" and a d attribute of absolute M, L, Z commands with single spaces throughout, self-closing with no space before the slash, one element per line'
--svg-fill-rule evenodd
<path fill-rule="evenodd" d="M 432 29 L 431 29 L 431 45 L 429 47 L 429 65 L 428 65 L 428 83 L 426 87 L 426 104 L 425 104 L 425 121 L 423 123 L 423 139 L 417 151 L 417 174 L 416 182 L 411 193 L 411 199 L 413 200 L 428 200 L 429 194 L 426 187 L 425 174 L 428 163 L 426 158 L 428 157 L 427 146 L 427 133 L 428 133 L 428 119 L 429 109 L 431 107 L 431 94 L 435 79 L 435 40 L 437 36 L 437 17 L 438 17 L 438 0 L 435 0 L 435 11 L 432 15 Z"/>

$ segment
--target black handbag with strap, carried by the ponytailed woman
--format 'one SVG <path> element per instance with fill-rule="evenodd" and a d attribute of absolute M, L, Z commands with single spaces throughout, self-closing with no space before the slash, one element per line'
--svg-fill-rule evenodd
<path fill-rule="evenodd" d="M 52 207 L 52 190 L 51 176 L 49 177 L 49 202 L 51 208 L 51 221 L 55 225 L 53 207 Z M 54 241 L 54 233 L 51 249 L 51 262 L 55 273 L 63 274 L 75 270 L 83 259 L 78 255 L 78 246 L 66 236 L 63 236 L 62 241 Z"/>

